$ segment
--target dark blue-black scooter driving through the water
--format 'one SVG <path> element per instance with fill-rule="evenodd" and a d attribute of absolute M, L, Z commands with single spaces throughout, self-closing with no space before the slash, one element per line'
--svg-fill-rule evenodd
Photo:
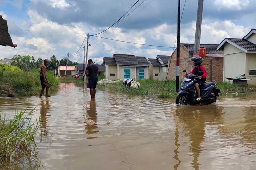
<path fill-rule="evenodd" d="M 186 72 L 186 70 L 183 70 Z M 211 104 L 215 103 L 221 90 L 215 88 L 216 81 L 207 82 L 200 88 L 201 100 L 196 101 L 197 93 L 194 85 L 200 80 L 198 76 L 201 76 L 203 71 L 199 71 L 197 74 L 187 74 L 186 79 L 182 80 L 181 90 L 176 98 L 176 104 L 181 105 L 195 105 L 195 104 Z"/>

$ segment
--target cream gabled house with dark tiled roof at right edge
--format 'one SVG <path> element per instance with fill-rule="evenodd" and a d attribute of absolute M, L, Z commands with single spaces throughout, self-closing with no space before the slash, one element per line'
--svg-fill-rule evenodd
<path fill-rule="evenodd" d="M 243 38 L 225 38 L 217 50 L 224 51 L 223 81 L 245 74 L 251 79 L 248 84 L 256 85 L 256 29 L 251 29 Z"/>

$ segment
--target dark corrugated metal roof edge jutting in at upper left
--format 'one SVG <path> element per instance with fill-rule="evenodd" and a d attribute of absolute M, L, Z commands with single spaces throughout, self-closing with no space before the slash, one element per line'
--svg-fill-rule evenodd
<path fill-rule="evenodd" d="M 17 45 L 12 42 L 11 36 L 8 32 L 7 21 L 3 19 L 2 15 L 0 15 L 0 45 L 17 47 Z"/>

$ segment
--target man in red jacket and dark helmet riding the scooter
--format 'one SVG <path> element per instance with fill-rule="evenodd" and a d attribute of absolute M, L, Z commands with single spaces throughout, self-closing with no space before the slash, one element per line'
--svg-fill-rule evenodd
<path fill-rule="evenodd" d="M 204 68 L 203 65 L 201 65 L 202 63 L 202 58 L 198 57 L 198 56 L 194 56 L 191 58 L 191 61 L 194 61 L 194 66 L 195 68 L 189 72 L 189 74 L 197 74 L 199 71 L 203 71 L 203 74 L 201 76 L 198 76 L 198 78 L 200 79 L 196 84 L 195 84 L 195 89 L 197 91 L 197 99 L 196 101 L 200 101 L 201 100 L 201 96 L 200 96 L 200 88 L 204 86 L 204 84 L 206 83 L 206 77 L 207 77 L 207 72 Z"/>

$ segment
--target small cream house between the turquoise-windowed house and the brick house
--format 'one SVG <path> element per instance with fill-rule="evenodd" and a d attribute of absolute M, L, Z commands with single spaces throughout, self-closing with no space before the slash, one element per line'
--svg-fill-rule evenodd
<path fill-rule="evenodd" d="M 157 55 L 156 58 L 148 58 L 150 63 L 150 79 L 163 80 L 166 78 L 169 55 Z"/>

